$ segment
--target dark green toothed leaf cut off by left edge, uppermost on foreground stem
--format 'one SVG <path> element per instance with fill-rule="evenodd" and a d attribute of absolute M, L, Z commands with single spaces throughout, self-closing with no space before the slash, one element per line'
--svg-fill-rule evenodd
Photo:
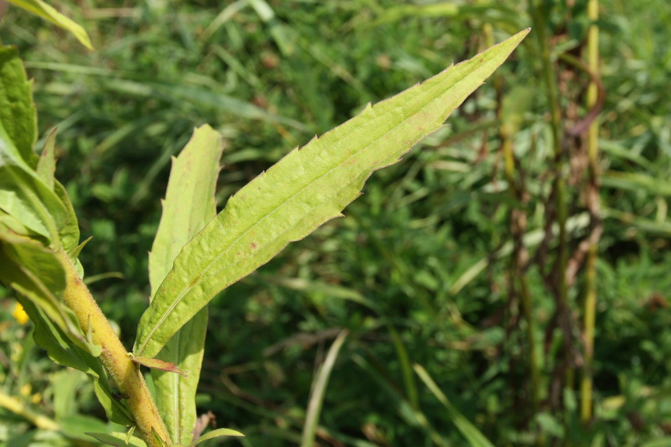
<path fill-rule="evenodd" d="M 33 145 L 37 141 L 38 125 L 30 84 L 18 50 L 12 46 L 0 47 L 0 125 L 21 158 L 35 168 L 38 159 Z"/>

